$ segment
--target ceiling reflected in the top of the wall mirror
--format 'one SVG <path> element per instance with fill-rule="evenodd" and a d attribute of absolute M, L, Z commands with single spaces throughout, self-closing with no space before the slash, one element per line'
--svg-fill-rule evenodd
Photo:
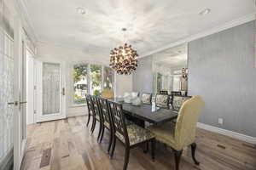
<path fill-rule="evenodd" d="M 153 55 L 153 62 L 157 65 L 172 68 L 173 70 L 187 67 L 188 45 L 187 43 L 177 47 L 168 48 Z"/>

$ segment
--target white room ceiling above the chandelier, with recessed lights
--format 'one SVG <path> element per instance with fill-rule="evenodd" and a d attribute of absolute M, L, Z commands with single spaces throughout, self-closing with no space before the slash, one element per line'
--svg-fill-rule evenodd
<path fill-rule="evenodd" d="M 106 58 L 124 39 L 138 54 L 148 54 L 254 12 L 253 0 L 21 1 L 39 42 Z M 84 15 L 77 12 L 79 7 L 84 8 Z M 200 15 L 205 8 L 211 13 Z"/>

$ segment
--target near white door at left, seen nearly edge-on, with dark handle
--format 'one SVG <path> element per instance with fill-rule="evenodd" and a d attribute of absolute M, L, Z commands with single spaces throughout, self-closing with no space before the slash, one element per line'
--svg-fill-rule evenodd
<path fill-rule="evenodd" d="M 26 146 L 26 42 L 19 19 L 14 35 L 14 169 L 19 170 Z"/>

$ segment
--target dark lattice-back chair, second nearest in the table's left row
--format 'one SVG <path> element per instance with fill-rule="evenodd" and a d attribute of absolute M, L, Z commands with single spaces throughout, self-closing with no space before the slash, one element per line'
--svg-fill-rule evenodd
<path fill-rule="evenodd" d="M 110 111 L 108 108 L 108 99 L 98 98 L 98 106 L 100 108 L 101 115 L 102 115 L 102 133 L 101 133 L 100 143 L 102 142 L 105 128 L 107 128 L 108 131 L 110 132 L 110 138 L 108 143 L 108 153 L 109 153 L 111 144 L 113 141 L 113 126 L 111 122 Z"/>

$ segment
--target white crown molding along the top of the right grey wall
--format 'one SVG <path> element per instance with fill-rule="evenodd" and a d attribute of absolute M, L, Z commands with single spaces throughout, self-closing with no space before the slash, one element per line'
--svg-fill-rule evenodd
<path fill-rule="evenodd" d="M 212 29 L 210 29 L 208 31 L 202 31 L 202 32 L 197 33 L 195 35 L 192 35 L 192 36 L 186 37 L 184 39 L 181 39 L 177 42 L 172 42 L 172 43 L 170 43 L 170 44 L 168 44 L 164 47 L 157 48 L 153 51 L 150 51 L 146 54 L 143 54 L 140 57 L 138 57 L 138 59 L 143 58 L 143 57 L 147 57 L 147 56 L 152 55 L 152 54 L 156 54 L 156 53 L 158 53 L 160 51 L 163 51 L 163 50 L 166 50 L 168 48 L 176 47 L 177 45 L 181 45 L 183 43 L 194 41 L 194 40 L 199 39 L 201 37 L 207 37 L 207 36 L 212 35 L 214 33 L 224 31 L 224 30 L 230 29 L 230 28 L 235 27 L 235 26 L 240 26 L 240 25 L 245 24 L 245 23 L 247 23 L 249 21 L 252 21 L 252 20 L 255 20 L 255 13 L 247 14 L 247 15 L 245 15 L 245 16 L 237 19 L 237 20 L 232 20 L 230 22 L 227 22 L 222 26 L 216 26 L 216 27 L 213 27 Z"/>

